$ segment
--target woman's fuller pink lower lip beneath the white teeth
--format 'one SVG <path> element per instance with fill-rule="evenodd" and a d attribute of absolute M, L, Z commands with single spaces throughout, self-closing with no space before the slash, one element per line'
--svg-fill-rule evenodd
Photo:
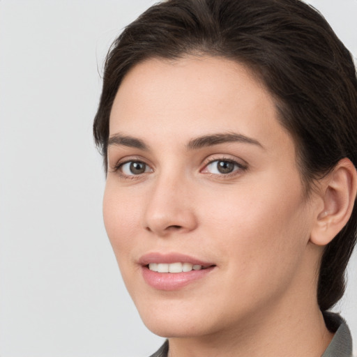
<path fill-rule="evenodd" d="M 178 290 L 186 285 L 204 278 L 211 273 L 215 266 L 201 269 L 200 271 L 188 271 L 184 273 L 158 273 L 151 271 L 147 266 L 142 266 L 142 275 L 147 284 L 158 290 Z"/>

